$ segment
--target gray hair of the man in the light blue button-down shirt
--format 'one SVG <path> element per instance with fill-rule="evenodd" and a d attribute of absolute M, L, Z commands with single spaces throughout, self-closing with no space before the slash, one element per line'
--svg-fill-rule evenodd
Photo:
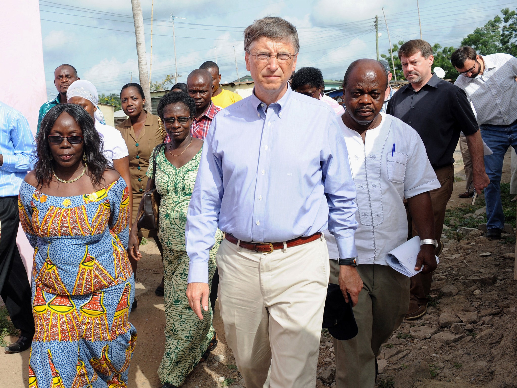
<path fill-rule="evenodd" d="M 289 39 L 293 44 L 295 54 L 300 51 L 300 42 L 296 27 L 282 18 L 266 16 L 255 20 L 244 30 L 244 51 L 249 53 L 251 43 L 262 37 L 281 41 Z"/>

